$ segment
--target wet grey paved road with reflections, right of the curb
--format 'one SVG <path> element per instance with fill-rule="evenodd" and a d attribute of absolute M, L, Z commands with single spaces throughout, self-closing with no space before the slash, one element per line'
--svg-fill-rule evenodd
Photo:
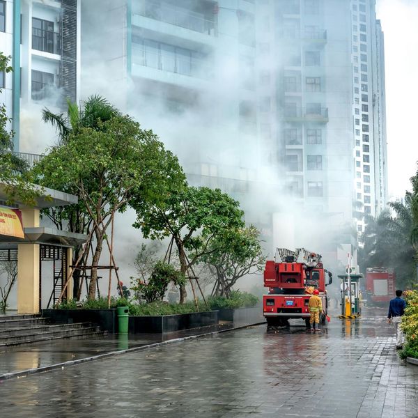
<path fill-rule="evenodd" d="M 1 417 L 418 417 L 384 316 L 265 325 L 0 382 Z"/>

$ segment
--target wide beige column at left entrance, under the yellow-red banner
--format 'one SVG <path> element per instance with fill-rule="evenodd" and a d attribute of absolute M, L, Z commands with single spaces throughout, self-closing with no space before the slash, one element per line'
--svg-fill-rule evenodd
<path fill-rule="evenodd" d="M 17 313 L 39 314 L 39 245 L 17 245 Z"/>

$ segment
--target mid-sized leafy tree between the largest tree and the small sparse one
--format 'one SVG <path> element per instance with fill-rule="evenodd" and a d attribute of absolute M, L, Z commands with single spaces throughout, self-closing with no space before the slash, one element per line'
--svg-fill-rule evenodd
<path fill-rule="evenodd" d="M 192 275 L 190 270 L 202 256 L 214 251 L 212 240 L 244 227 L 238 201 L 219 189 L 184 187 L 162 196 L 133 203 L 137 211 L 134 226 L 141 229 L 144 238 L 171 237 L 185 276 Z M 186 297 L 185 286 L 180 286 L 180 303 Z"/>

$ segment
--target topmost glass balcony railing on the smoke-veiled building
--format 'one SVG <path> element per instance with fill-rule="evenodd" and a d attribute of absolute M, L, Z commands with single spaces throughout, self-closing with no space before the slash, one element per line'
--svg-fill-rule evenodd
<path fill-rule="evenodd" d="M 190 31 L 215 36 L 215 23 L 212 20 L 205 19 L 199 13 L 186 11 L 168 3 L 141 2 L 134 9 L 134 15 L 145 16 L 149 19 L 180 26 Z"/>

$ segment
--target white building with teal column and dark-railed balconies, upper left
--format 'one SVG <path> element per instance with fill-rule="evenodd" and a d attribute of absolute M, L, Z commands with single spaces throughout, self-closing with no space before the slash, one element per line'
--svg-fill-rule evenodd
<path fill-rule="evenodd" d="M 59 110 L 78 98 L 79 17 L 79 0 L 0 1 L 0 50 L 13 65 L 13 72 L 1 75 L 0 100 L 12 118 L 15 150 L 22 109 L 38 107 L 40 118 L 42 106 Z"/>

